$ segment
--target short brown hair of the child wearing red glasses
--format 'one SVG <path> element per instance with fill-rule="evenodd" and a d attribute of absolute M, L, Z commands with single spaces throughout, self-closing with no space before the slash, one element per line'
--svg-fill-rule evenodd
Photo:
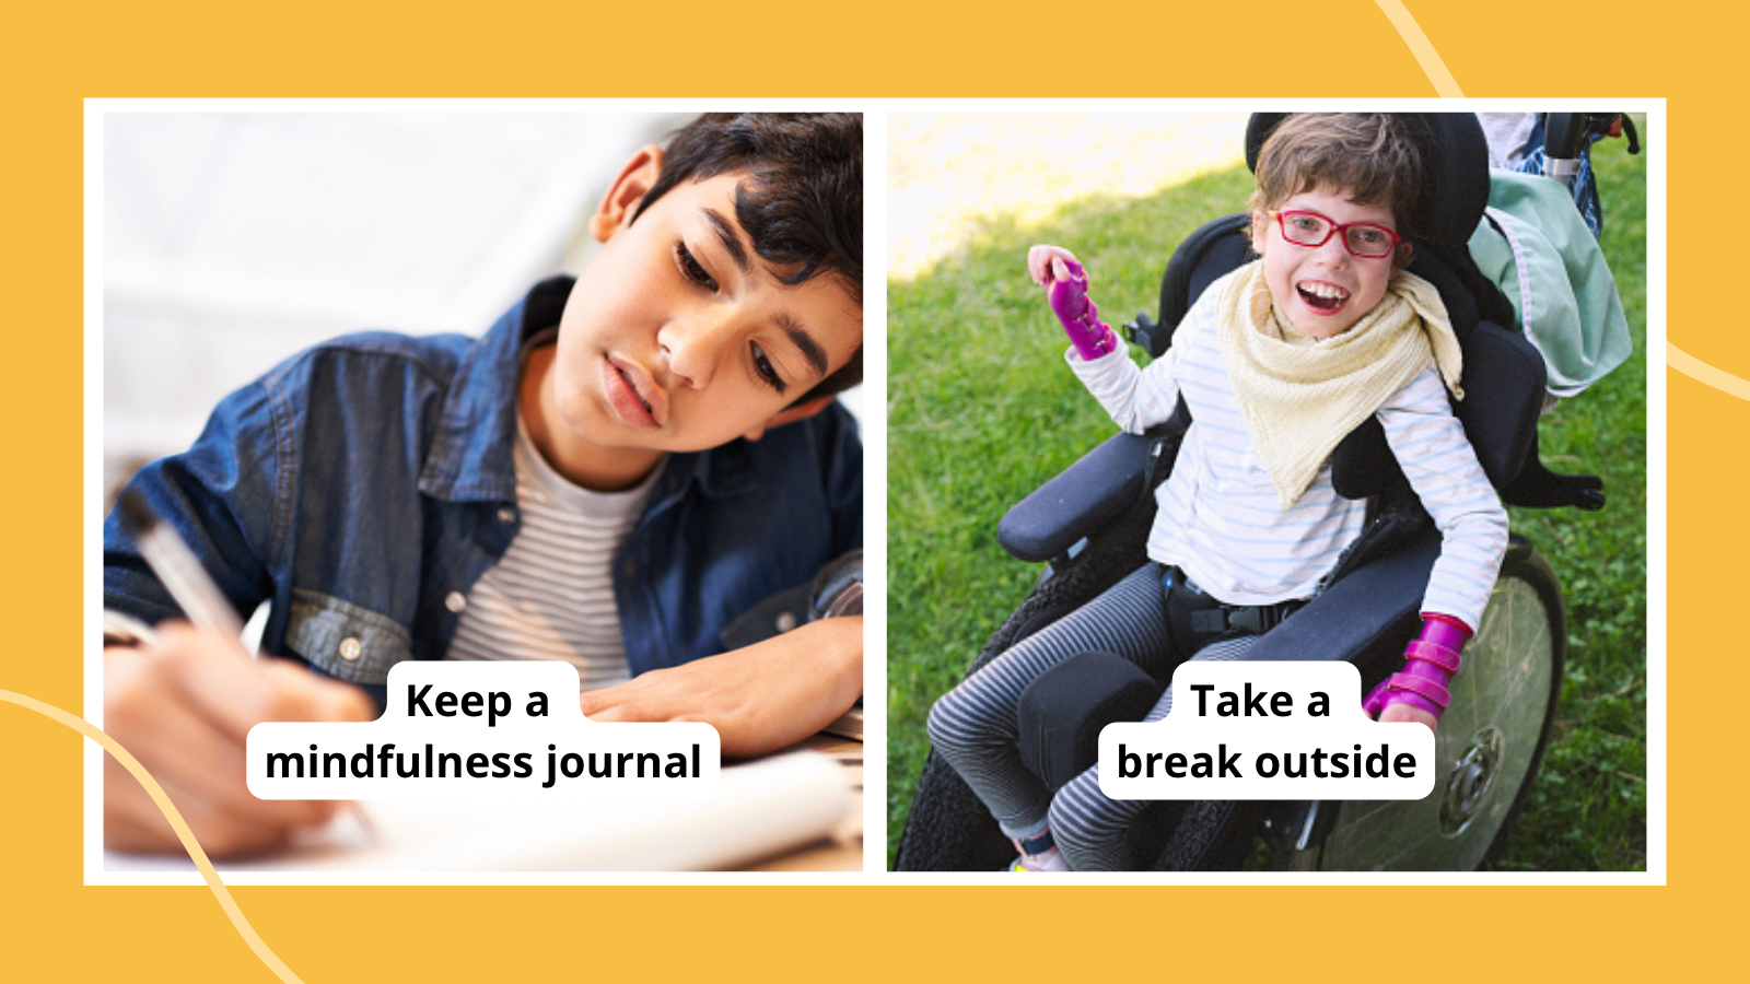
<path fill-rule="evenodd" d="M 1423 145 L 1416 128 L 1390 112 L 1307 112 L 1276 126 L 1258 151 L 1260 212 L 1306 191 L 1346 191 L 1356 203 L 1382 205 L 1405 240 L 1423 221 Z"/>

